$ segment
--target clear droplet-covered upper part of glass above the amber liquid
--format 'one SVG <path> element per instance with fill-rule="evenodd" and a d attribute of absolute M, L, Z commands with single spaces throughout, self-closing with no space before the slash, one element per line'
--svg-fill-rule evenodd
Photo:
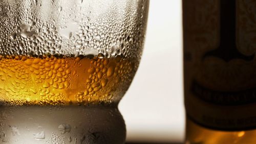
<path fill-rule="evenodd" d="M 145 3 L 2 1 L 0 54 L 140 57 Z"/>

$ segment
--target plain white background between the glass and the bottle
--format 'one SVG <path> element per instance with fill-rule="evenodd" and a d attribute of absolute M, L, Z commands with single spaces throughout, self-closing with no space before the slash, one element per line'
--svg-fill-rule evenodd
<path fill-rule="evenodd" d="M 181 11 L 180 0 L 150 1 L 141 63 L 119 104 L 127 141 L 183 141 Z"/>

